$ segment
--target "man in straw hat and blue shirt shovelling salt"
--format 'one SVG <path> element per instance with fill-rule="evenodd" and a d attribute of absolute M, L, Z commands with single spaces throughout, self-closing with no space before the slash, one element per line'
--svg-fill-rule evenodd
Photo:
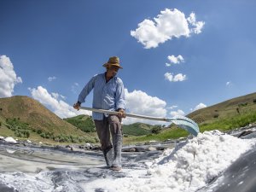
<path fill-rule="evenodd" d="M 119 57 L 110 57 L 103 65 L 106 73 L 94 76 L 79 94 L 79 99 L 73 108 L 78 109 L 90 90 L 93 90 L 93 108 L 102 108 L 118 111 L 118 115 L 108 115 L 105 113 L 92 113 L 96 125 L 96 132 L 102 145 L 102 152 L 106 164 L 113 171 L 120 171 L 121 149 L 122 149 L 122 128 L 121 119 L 125 118 L 125 89 L 121 79 L 116 77 L 119 68 Z M 112 143 L 110 141 L 110 132 Z"/>

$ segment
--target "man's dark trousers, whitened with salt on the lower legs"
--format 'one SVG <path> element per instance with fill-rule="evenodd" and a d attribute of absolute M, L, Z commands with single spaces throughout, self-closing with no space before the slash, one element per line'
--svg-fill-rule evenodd
<path fill-rule="evenodd" d="M 102 152 L 107 166 L 121 167 L 122 126 L 117 115 L 104 116 L 102 120 L 94 120 L 96 132 L 102 145 Z M 110 139 L 112 137 L 112 142 Z"/>

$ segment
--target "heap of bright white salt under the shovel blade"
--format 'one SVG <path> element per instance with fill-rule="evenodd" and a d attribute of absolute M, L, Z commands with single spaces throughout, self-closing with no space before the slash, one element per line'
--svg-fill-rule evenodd
<path fill-rule="evenodd" d="M 129 177 L 100 179 L 84 183 L 83 188 L 108 192 L 195 191 L 218 177 L 253 145 L 254 139 L 242 140 L 220 131 L 205 131 L 148 162 L 147 170 L 129 170 Z"/>

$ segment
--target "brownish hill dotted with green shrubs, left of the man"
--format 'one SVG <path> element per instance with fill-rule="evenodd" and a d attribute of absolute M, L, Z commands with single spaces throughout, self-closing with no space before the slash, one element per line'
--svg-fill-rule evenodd
<path fill-rule="evenodd" d="M 96 138 L 80 131 L 28 96 L 0 98 L 1 136 L 55 142 L 95 142 Z"/>

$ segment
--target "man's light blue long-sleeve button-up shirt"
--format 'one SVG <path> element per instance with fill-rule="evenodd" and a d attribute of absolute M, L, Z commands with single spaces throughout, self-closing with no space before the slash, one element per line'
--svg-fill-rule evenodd
<path fill-rule="evenodd" d="M 125 109 L 125 88 L 121 79 L 113 77 L 106 83 L 105 73 L 97 74 L 84 86 L 78 101 L 85 102 L 86 96 L 92 89 L 94 89 L 92 108 L 111 111 L 116 111 L 119 108 Z M 93 112 L 92 119 L 102 120 L 103 113 Z"/>

